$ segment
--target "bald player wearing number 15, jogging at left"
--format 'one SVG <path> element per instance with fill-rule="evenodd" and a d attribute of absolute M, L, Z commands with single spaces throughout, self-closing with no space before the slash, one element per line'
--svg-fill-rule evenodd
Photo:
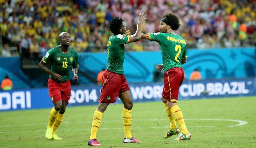
<path fill-rule="evenodd" d="M 78 54 L 70 45 L 71 39 L 67 32 L 59 34 L 61 45 L 50 49 L 39 63 L 39 68 L 50 75 L 48 79 L 49 95 L 54 103 L 50 111 L 45 137 L 62 139 L 55 131 L 61 124 L 71 93 L 69 71 L 72 69 L 74 81 L 78 80 Z M 47 68 L 51 64 L 51 70 Z"/>

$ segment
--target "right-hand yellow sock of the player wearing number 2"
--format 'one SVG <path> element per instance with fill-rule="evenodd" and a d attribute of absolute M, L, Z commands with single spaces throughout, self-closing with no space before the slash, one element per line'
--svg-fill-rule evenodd
<path fill-rule="evenodd" d="M 183 119 L 182 111 L 180 111 L 180 107 L 178 107 L 178 105 L 171 107 L 171 113 L 173 114 L 175 121 L 178 122 L 181 133 L 187 134 L 188 130 Z"/>

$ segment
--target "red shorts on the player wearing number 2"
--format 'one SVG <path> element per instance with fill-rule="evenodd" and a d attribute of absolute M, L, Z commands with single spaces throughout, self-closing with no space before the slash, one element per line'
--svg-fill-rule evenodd
<path fill-rule="evenodd" d="M 169 102 L 178 102 L 179 87 L 184 79 L 182 68 L 171 68 L 164 73 L 164 89 L 162 96 Z"/>

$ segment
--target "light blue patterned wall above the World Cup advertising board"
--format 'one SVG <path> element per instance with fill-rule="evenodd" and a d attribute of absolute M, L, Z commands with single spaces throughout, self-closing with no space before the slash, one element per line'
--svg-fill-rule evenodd
<path fill-rule="evenodd" d="M 255 57 L 255 47 L 189 49 L 188 62 L 183 67 L 187 78 L 194 69 L 201 73 L 202 79 L 255 77 Z M 78 61 L 78 83 L 94 83 L 91 79 L 96 80 L 97 73 L 107 67 L 107 53 L 79 53 Z M 127 82 L 152 82 L 155 65 L 160 63 L 160 51 L 127 52 L 124 61 Z M 0 58 L 0 80 L 6 74 L 13 81 L 14 89 L 47 86 L 48 76 L 40 70 L 22 70 L 19 57 Z"/>

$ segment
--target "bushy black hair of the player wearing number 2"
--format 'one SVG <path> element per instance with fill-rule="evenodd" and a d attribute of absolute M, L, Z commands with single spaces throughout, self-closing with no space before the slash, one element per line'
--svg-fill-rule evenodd
<path fill-rule="evenodd" d="M 171 29 L 178 30 L 180 27 L 180 21 L 178 17 L 175 14 L 172 14 L 171 12 L 166 13 L 162 16 L 161 19 L 165 18 L 168 25 L 171 26 Z"/>

